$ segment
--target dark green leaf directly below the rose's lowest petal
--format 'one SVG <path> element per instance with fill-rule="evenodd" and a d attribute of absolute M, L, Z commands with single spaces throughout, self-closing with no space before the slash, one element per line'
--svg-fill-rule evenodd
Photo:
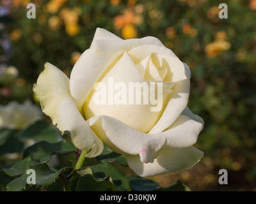
<path fill-rule="evenodd" d="M 160 187 L 154 180 L 144 179 L 137 175 L 131 175 L 127 179 L 134 191 L 155 191 Z"/>

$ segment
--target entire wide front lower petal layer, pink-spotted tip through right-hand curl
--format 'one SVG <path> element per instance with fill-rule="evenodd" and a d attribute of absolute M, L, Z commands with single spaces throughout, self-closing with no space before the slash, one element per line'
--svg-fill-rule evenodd
<path fill-rule="evenodd" d="M 144 163 L 152 163 L 162 147 L 190 147 L 202 129 L 201 123 L 184 115 L 166 131 L 156 134 L 141 133 L 106 115 L 92 117 L 87 122 L 110 149 L 120 154 L 140 154 Z"/>

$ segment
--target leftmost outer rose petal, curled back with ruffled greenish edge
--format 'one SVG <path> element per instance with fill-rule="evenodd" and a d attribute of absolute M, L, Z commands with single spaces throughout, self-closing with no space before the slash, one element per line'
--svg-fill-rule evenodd
<path fill-rule="evenodd" d="M 38 77 L 33 87 L 42 110 L 61 131 L 70 131 L 72 142 L 81 150 L 90 149 L 94 143 L 102 146 L 92 129 L 83 119 L 72 99 L 67 76 L 50 63 Z M 99 151 L 97 151 L 99 152 Z"/>

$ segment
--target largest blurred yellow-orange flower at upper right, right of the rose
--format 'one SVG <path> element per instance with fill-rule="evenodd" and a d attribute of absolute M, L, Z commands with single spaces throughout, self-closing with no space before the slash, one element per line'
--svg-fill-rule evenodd
<path fill-rule="evenodd" d="M 231 47 L 228 41 L 214 41 L 205 47 L 205 53 L 208 57 L 215 57 L 220 55 L 221 52 L 228 50 Z"/>

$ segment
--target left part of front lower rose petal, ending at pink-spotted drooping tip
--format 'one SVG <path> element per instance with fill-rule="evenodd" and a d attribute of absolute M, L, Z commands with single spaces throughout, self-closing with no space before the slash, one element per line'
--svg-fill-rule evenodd
<path fill-rule="evenodd" d="M 113 117 L 99 115 L 87 120 L 91 128 L 111 150 L 119 154 L 141 154 L 143 162 L 152 162 L 154 153 L 165 142 L 164 137 L 147 135 Z"/>

